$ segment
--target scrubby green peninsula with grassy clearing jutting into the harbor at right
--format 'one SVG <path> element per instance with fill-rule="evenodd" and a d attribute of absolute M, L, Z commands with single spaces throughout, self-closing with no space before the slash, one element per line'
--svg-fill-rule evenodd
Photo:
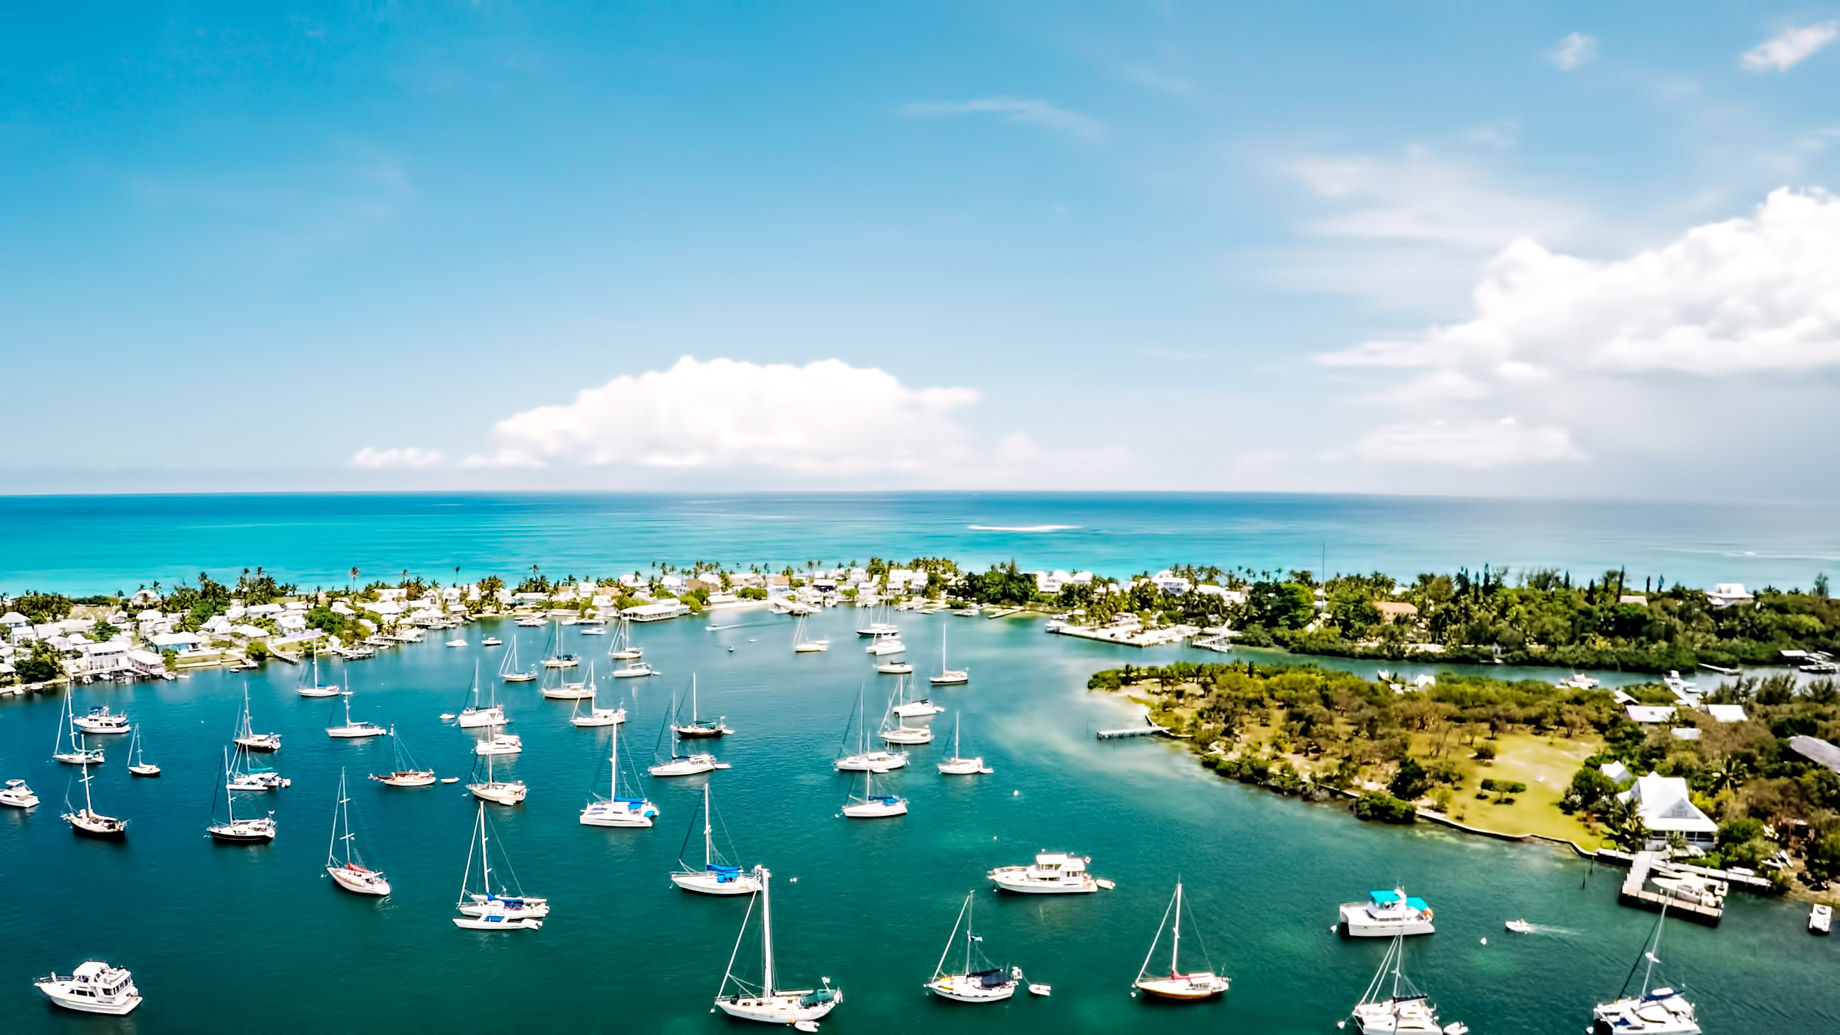
<path fill-rule="evenodd" d="M 1719 823 L 1706 864 L 1763 867 L 1785 886 L 1840 880 L 1840 775 L 1788 744 L 1840 740 L 1834 680 L 1737 678 L 1706 702 L 1741 705 L 1742 720 L 1682 707 L 1656 726 L 1632 722 L 1608 691 L 1485 676 L 1402 685 L 1235 661 L 1126 665 L 1087 687 L 1144 704 L 1220 775 L 1312 799 L 1351 796 L 1365 820 L 1430 812 L 1581 847 L 1638 847 L 1650 832 L 1604 768 L 1682 777 Z M 1674 704 L 1662 685 L 1625 692 Z M 1798 867 L 1768 866 L 1777 853 Z"/>

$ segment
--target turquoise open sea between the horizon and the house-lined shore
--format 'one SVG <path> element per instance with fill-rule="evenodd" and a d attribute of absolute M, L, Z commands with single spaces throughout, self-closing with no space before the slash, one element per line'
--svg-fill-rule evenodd
<path fill-rule="evenodd" d="M 1170 564 L 1384 571 L 1485 564 L 1593 578 L 1807 586 L 1840 506 L 1249 494 L 302 494 L 0 497 L 0 591 L 132 591 L 245 567 L 302 586 L 802 567 L 949 556 L 1126 576 Z"/>

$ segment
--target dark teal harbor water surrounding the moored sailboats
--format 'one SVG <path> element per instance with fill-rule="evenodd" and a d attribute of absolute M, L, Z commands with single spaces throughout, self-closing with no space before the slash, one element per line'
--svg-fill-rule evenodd
<path fill-rule="evenodd" d="M 94 738 L 107 750 L 98 808 L 131 820 L 125 843 L 74 838 L 57 818 L 66 794 L 81 801 L 75 770 L 50 759 L 61 698 L 0 702 L 0 775 L 26 777 L 44 799 L 29 814 L 0 810 L 6 1029 L 747 1031 L 710 1013 L 745 901 L 690 895 L 668 880 L 681 853 L 701 862 L 699 836 L 686 845 L 686 834 L 705 783 L 740 860 L 773 871 L 782 980 L 830 978 L 845 991 L 824 1020 L 839 1035 L 1334 1031 L 1386 948 L 1332 934 L 1336 904 L 1391 886 L 1437 910 L 1437 934 L 1408 941 L 1406 967 L 1443 1020 L 1478 1035 L 1575 1033 L 1592 1002 L 1619 991 L 1654 925 L 1652 913 L 1616 904 L 1621 871 L 1570 851 L 1362 823 L 1343 808 L 1214 777 L 1167 740 L 1098 742 L 1095 729 L 1141 713 L 1087 692 L 1095 669 L 1220 656 L 1043 635 L 1023 619 L 900 615 L 920 676 L 938 667 L 944 630 L 953 667 L 970 669 L 972 681 L 933 692 L 948 707 L 933 720 L 940 738 L 878 781 L 907 796 L 911 812 L 839 818 L 850 779 L 830 761 L 845 722 L 859 687 L 880 715 L 894 683 L 870 670 L 856 617 L 813 617 L 808 634 L 828 635 L 832 650 L 800 656 L 791 622 L 760 610 L 640 626 L 646 659 L 662 676 L 622 681 L 605 680 L 605 637 L 567 630 L 569 648 L 598 657 L 605 692 L 627 705 L 622 751 L 637 762 L 653 759 L 661 720 L 692 672 L 703 715 L 734 727 L 714 744 L 732 770 L 642 777 L 662 812 L 650 831 L 580 825 L 581 805 L 605 790 L 607 731 L 569 726 L 570 704 L 541 700 L 535 683 L 499 685 L 510 731 L 524 740 L 500 772 L 526 781 L 530 799 L 489 814 L 521 888 L 552 901 L 539 932 L 477 934 L 449 923 L 475 803 L 462 785 L 412 790 L 364 779 L 390 768 L 388 740 L 328 738 L 340 702 L 296 696 L 300 669 L 77 687 L 77 711 L 127 709 L 147 759 L 166 770 L 131 779 L 127 738 Z M 475 663 L 495 680 L 506 648 L 478 646 L 486 634 L 521 637 L 524 661 L 541 656 L 546 637 L 484 622 L 467 626 L 464 650 L 443 646 L 436 632 L 329 676 L 355 691 L 355 718 L 394 724 L 420 762 L 466 777 L 471 737 L 440 715 L 462 707 Z M 282 733 L 272 764 L 293 781 L 259 799 L 280 823 L 267 847 L 204 836 L 245 687 L 256 729 Z M 992 775 L 933 770 L 949 751 L 953 718 Z M 394 884 L 388 899 L 344 893 L 324 875 L 340 768 L 351 775 L 361 849 Z M 1117 890 L 988 890 L 986 869 L 1029 862 L 1040 849 L 1091 856 L 1093 873 Z M 1203 965 L 1205 948 L 1205 961 L 1233 980 L 1220 1002 L 1159 1006 L 1130 994 L 1178 877 L 1192 910 L 1185 965 Z M 968 890 L 979 895 L 986 954 L 1051 983 L 1052 996 L 959 1006 L 922 991 Z M 1516 917 L 1536 932 L 1505 932 L 1503 921 Z M 1840 947 L 1807 936 L 1803 917 L 1794 902 L 1733 895 L 1719 928 L 1669 921 L 1662 972 L 1698 1004 L 1706 1031 L 1836 1031 Z M 31 978 L 86 958 L 131 967 L 145 1006 L 107 1020 L 37 998 Z"/>

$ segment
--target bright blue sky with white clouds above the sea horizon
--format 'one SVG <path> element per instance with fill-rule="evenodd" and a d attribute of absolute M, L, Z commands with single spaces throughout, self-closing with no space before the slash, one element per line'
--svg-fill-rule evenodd
<path fill-rule="evenodd" d="M 0 18 L 0 492 L 1833 492 L 1836 4 Z"/>

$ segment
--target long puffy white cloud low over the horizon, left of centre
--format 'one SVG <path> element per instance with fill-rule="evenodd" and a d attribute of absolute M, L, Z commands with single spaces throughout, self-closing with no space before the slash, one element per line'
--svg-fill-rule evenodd
<path fill-rule="evenodd" d="M 491 427 L 493 449 L 467 464 L 942 473 L 964 459 L 955 418 L 977 398 L 972 389 L 913 389 L 839 359 L 793 366 L 686 355 L 508 416 Z"/>

